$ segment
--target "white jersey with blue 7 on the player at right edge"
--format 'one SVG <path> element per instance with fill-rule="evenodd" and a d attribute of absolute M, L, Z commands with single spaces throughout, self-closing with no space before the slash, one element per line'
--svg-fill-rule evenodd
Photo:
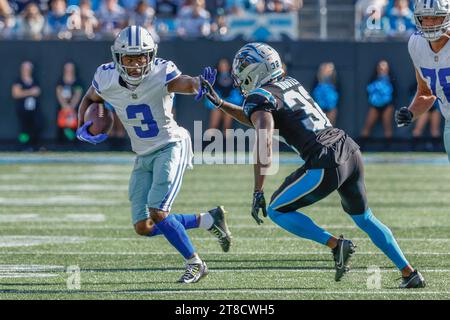
<path fill-rule="evenodd" d="M 409 39 L 408 50 L 420 76 L 438 98 L 442 115 L 450 120 L 450 41 L 435 53 L 428 40 L 416 33 Z"/>

